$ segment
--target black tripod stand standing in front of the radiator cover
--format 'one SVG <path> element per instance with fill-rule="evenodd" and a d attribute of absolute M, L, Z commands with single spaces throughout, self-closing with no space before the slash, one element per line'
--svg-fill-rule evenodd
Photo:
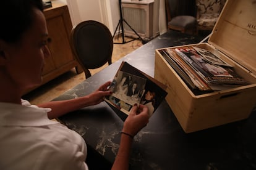
<path fill-rule="evenodd" d="M 134 30 L 134 28 L 132 28 L 132 26 L 129 25 L 129 23 L 126 22 L 126 20 L 122 17 L 122 6 L 121 6 L 121 0 L 119 0 L 119 11 L 120 11 L 120 19 L 119 19 L 119 22 L 116 26 L 116 30 L 114 31 L 114 35 L 116 34 L 116 31 L 117 31 L 117 28 L 119 28 L 119 32 L 120 32 L 120 29 L 122 31 L 122 42 L 114 42 L 114 44 L 126 44 L 127 42 L 130 42 L 130 41 L 134 41 L 135 39 L 141 39 L 142 40 L 142 44 L 146 44 L 146 42 L 140 37 L 140 35 Z M 126 23 L 129 28 L 134 31 L 134 33 L 139 37 L 139 38 L 135 38 L 135 39 L 131 39 L 130 41 L 125 41 L 124 40 L 124 23 Z M 114 35 L 113 35 L 113 38 L 114 38 Z M 119 38 L 119 34 L 117 35 L 117 38 Z"/>

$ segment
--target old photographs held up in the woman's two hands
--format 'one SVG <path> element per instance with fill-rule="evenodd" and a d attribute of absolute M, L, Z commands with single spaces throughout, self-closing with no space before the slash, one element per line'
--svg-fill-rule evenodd
<path fill-rule="evenodd" d="M 109 87 L 113 94 L 106 97 L 105 101 L 126 115 L 129 115 L 135 103 L 141 103 L 148 107 L 148 113 L 152 116 L 167 95 L 160 86 L 163 84 L 123 62 Z"/>

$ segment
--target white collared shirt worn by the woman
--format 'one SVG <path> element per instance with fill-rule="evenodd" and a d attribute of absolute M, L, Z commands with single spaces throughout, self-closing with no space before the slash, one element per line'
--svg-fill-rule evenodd
<path fill-rule="evenodd" d="M 88 169 L 77 132 L 48 119 L 51 108 L 0 103 L 0 169 Z"/>

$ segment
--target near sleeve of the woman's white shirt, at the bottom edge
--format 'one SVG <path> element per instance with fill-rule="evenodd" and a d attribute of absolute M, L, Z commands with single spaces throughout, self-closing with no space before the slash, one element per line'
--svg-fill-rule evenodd
<path fill-rule="evenodd" d="M 84 144 L 70 142 L 68 137 L 56 137 L 43 148 L 38 159 L 38 169 L 88 170 L 85 163 L 87 147 Z"/>

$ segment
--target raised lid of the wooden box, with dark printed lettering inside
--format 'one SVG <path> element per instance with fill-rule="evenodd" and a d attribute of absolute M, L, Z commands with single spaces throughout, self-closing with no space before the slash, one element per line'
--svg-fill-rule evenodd
<path fill-rule="evenodd" d="M 256 75 L 256 1 L 227 1 L 208 43 Z"/>

